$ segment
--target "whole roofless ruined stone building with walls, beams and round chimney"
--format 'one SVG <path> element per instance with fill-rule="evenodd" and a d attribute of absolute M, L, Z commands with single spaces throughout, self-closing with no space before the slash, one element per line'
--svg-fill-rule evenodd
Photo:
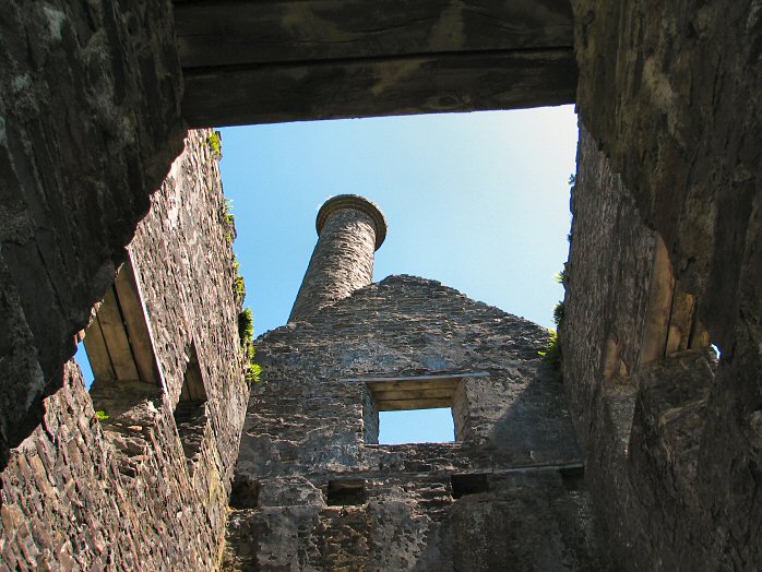
<path fill-rule="evenodd" d="M 0 569 L 759 568 L 757 0 L 2 14 Z M 536 326 L 370 284 L 383 226 L 352 200 L 249 386 L 218 148 L 189 128 L 564 103 L 562 384 Z M 352 217 L 340 275 L 322 237 Z M 416 400 L 457 441 L 376 444 L 374 412 Z"/>

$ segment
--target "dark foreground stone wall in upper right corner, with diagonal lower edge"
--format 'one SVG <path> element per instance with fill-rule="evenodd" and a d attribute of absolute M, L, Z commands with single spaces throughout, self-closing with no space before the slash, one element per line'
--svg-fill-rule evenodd
<path fill-rule="evenodd" d="M 760 252 L 759 4 L 572 3 L 582 122 L 730 350 L 741 266 Z"/>

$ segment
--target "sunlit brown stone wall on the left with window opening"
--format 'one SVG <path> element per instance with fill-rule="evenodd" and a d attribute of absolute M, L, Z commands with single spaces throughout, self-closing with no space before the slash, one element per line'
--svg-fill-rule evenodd
<path fill-rule="evenodd" d="M 218 560 L 248 388 L 235 230 L 211 134 L 189 133 L 129 247 L 162 388 L 98 419 L 79 367 L 64 367 L 43 424 L 0 475 L 0 570 L 209 570 Z M 172 413 L 192 347 L 207 402 L 189 454 Z"/>

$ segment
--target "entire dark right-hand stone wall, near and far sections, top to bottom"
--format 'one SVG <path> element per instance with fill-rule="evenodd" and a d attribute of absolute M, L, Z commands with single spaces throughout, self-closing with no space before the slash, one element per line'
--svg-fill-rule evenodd
<path fill-rule="evenodd" d="M 762 546 L 762 12 L 751 0 L 573 5 L 590 136 L 563 339 L 596 505 L 633 569 L 750 569 Z M 650 233 L 648 265 L 639 237 Z M 665 272 L 682 301 L 654 312 Z M 722 350 L 716 377 L 690 347 L 635 372 L 659 314 L 671 326 L 690 306 L 704 333 L 689 337 Z M 604 380 L 628 367 L 632 425 L 620 431 L 629 440 L 620 463 Z"/>

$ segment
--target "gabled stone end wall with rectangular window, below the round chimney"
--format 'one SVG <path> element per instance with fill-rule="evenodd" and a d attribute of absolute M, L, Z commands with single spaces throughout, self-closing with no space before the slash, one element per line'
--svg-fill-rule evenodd
<path fill-rule="evenodd" d="M 258 341 L 235 570 L 605 570 L 547 331 L 393 276 Z M 462 440 L 379 445 L 373 378 L 460 378 Z M 414 390 L 415 392 L 415 390 Z"/>

